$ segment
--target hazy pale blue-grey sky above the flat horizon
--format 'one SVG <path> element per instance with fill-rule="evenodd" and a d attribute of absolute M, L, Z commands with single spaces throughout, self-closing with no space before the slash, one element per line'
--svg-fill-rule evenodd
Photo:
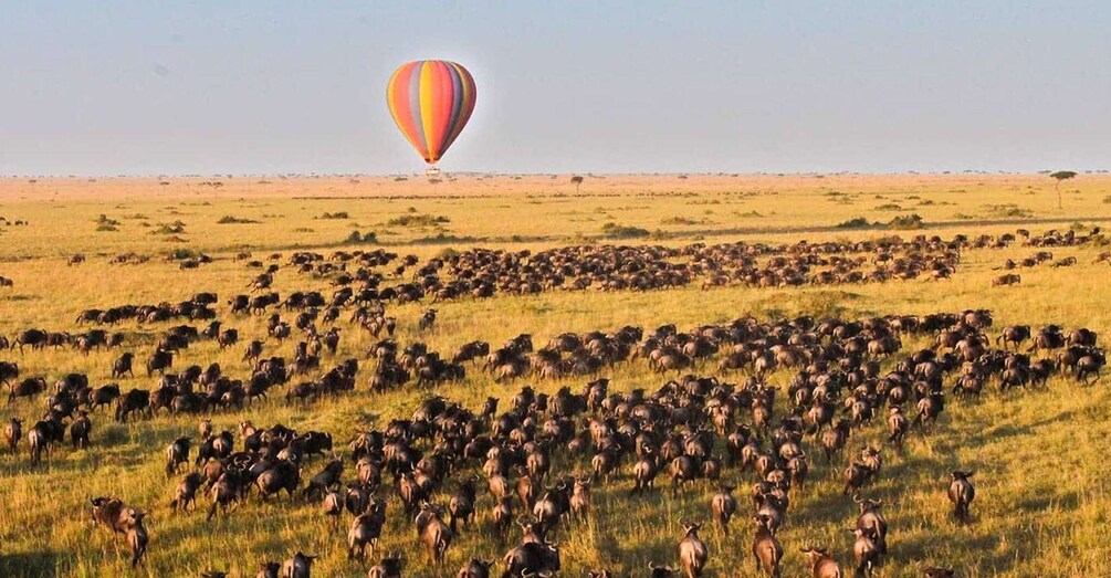
<path fill-rule="evenodd" d="M 449 171 L 1111 167 L 1108 1 L 4 0 L 0 175 L 422 170 L 422 58 Z"/>

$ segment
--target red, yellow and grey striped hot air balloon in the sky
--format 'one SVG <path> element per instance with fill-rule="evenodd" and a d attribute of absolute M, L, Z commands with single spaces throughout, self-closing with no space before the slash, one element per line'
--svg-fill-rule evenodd
<path fill-rule="evenodd" d="M 386 101 L 417 153 L 436 165 L 471 118 L 474 79 L 456 62 L 417 60 L 393 72 Z"/>

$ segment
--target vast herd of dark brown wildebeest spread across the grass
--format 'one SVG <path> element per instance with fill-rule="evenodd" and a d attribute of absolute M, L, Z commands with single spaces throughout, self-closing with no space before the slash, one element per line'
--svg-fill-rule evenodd
<path fill-rule="evenodd" d="M 583 531 L 592 517 L 607 515 L 592 500 L 592 489 L 652 500 L 660 492 L 700 487 L 714 490 L 704 517 L 681 520 L 674 556 L 652 560 L 643 575 L 725 572 L 714 570 L 714 552 L 700 536 L 712 522 L 729 544 L 751 552 L 755 571 L 780 576 L 785 546 L 779 530 L 795 517 L 792 501 L 808 491 L 808 479 L 835 468 L 842 481 L 835 499 L 852 500 L 859 510 L 854 520 L 845 520 L 851 537 L 843 544 L 788 546 L 803 552 L 813 577 L 872 576 L 901 556 L 900 528 L 889 528 L 883 501 L 869 496 L 884 475 L 884 456 L 902 451 L 911 435 L 930 436 L 944 427 L 939 418 L 949 403 L 977 398 L 988 388 L 1004 393 L 1045 388 L 1054 375 L 1072 376 L 1081 385 L 1097 381 L 1105 352 L 1094 331 L 1054 325 L 995 328 L 991 311 L 982 309 L 863 319 L 739 317 L 687 330 L 662 325 L 563 332 L 540 341 L 543 347 L 522 333 L 501 346 L 473 340 L 441 355 L 421 340 L 398 342 L 394 331 L 402 321 L 389 307 L 558 288 L 661 289 L 698 278 L 705 279 L 703 288 L 883 282 L 922 275 L 943 279 L 955 270 L 962 249 L 1002 247 L 1019 237 L 1039 247 L 1087 242 L 1071 232 L 1034 238 L 1020 232 L 950 241 L 923 236 L 790 246 L 592 246 L 540 253 L 471 250 L 423 265 L 384 250 L 337 251 L 329 258 L 299 252 L 287 261 L 292 268 L 327 278 L 337 289 L 330 297 L 296 290 L 284 298 L 273 289 L 280 256 L 271 256 L 269 267 L 248 263 L 267 270 L 250 283 L 251 295 L 223 301 L 222 320 L 214 292 L 177 303 L 89 309 L 77 317 L 78 326 L 181 322 L 162 328 L 153 349 L 140 358 L 148 378 L 159 373 L 152 389 L 97 385 L 83 373 L 59 376 L 51 387 L 46 376 L 22 375 L 16 357 L 0 362 L 8 403 L 23 416 L 41 415 L 26 425 L 13 417 L 4 427 L 4 445 L 11 454 L 26 445 L 30 461 L 41 467 L 67 435 L 76 451 L 98 444 L 93 419 L 104 406 L 114 407 L 120 422 L 163 410 L 197 416 L 196 432 L 179 431 L 167 439 L 162 455 L 150 458 L 164 460 L 171 515 L 192 516 L 199 499 L 208 504 L 208 520 L 234 519 L 237 509 L 252 507 L 252 497 L 314 504 L 334 529 L 334 540 L 346 542 L 352 571 L 372 564 L 367 575 L 380 578 L 402 576 L 414 556 L 426 557 L 440 575 L 450 574 L 443 568 L 446 554 L 463 532 L 488 535 L 489 548 L 468 552 L 473 558 L 458 570 L 460 578 L 499 571 L 507 578 L 552 575 L 562 566 L 561 541 Z M 384 285 L 388 275 L 398 282 Z M 412 321 L 418 337 L 436 327 L 437 313 L 428 309 Z M 250 315 L 269 316 L 267 335 L 243 346 L 238 330 L 226 325 Z M 341 327 L 344 320 L 348 327 Z M 196 321 L 207 323 L 189 325 Z M 376 342 L 364 355 L 338 359 L 341 336 L 360 330 Z M 10 349 L 13 356 L 47 347 L 88 353 L 126 349 L 128 339 L 124 332 L 97 328 L 74 333 L 27 329 Z M 287 339 L 297 340 L 291 358 L 263 356 L 264 346 Z M 237 376 L 208 363 L 171 372 L 198 340 L 216 341 L 221 349 L 242 347 L 249 371 Z M 908 351 L 904 340 L 924 345 Z M 122 351 L 107 368 L 111 379 L 132 378 L 134 359 L 134 351 Z M 662 383 L 611 387 L 607 372 L 633 363 L 658 372 Z M 464 407 L 429 390 L 476 372 L 507 383 L 511 395 Z M 546 393 L 508 385 L 527 379 L 579 386 Z M 337 442 L 329 431 L 236 418 L 246 406 L 273 399 L 276 390 L 283 396 L 271 402 L 312 403 L 399 388 L 421 388 L 419 408 L 408 418 L 362 429 L 349 441 Z M 44 413 L 24 401 L 43 396 Z M 877 421 L 887 431 L 885 445 L 853 440 Z M 962 465 L 948 485 L 935 488 L 954 524 L 977 519 L 974 480 L 982 474 L 975 469 L 975 464 Z M 657 488 L 661 476 L 668 488 Z M 738 491 L 742 484 L 751 490 Z M 154 505 L 100 496 L 73 507 L 89 508 L 97 525 L 123 536 L 131 566 L 143 564 L 151 542 L 144 517 Z M 393 517 L 412 528 L 412 547 L 377 551 Z M 504 551 L 494 550 L 507 540 Z M 153 546 L 152 552 L 157 541 Z M 286 560 L 260 560 L 258 576 L 309 577 L 314 559 L 297 551 Z M 920 564 L 927 577 L 955 576 L 940 555 L 907 561 Z M 589 574 L 615 576 L 601 567 Z"/>

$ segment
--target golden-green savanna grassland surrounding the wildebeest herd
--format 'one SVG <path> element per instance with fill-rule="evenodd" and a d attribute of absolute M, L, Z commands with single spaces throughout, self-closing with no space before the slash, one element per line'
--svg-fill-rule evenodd
<path fill-rule="evenodd" d="M 1053 180 L 1041 175 L 608 176 L 587 177 L 578 189 L 569 177 L 459 176 L 436 185 L 416 177 L 0 180 L 0 216 L 7 220 L 0 222 L 0 276 L 12 280 L 12 287 L 0 287 L 0 335 L 10 339 L 28 328 L 78 333 L 88 329 L 74 321 L 84 309 L 177 302 L 212 291 L 220 296 L 214 306 L 219 319 L 239 329 L 242 340 L 227 350 L 213 341 L 191 343 L 174 359 L 174 370 L 216 361 L 226 373 L 247 377 L 251 363 L 242 360 L 243 347 L 250 339 L 266 338 L 267 316 L 233 316 L 226 305 L 231 296 L 249 292 L 248 283 L 259 273 L 236 259 L 242 252 L 281 266 L 273 290 L 282 296 L 294 289 L 327 296 L 336 289 L 330 280 L 296 272 L 287 265 L 292 252 L 327 256 L 334 250 L 384 248 L 424 262 L 449 249 L 472 247 L 539 251 L 584 243 L 680 247 L 738 240 L 859 241 L 891 235 L 949 239 L 1013 233 L 1018 228 L 1035 235 L 1049 229 L 1088 235 L 1092 227 L 1105 228 L 1111 221 L 1107 175 L 1080 175 L 1061 183 L 1063 209 L 1057 208 Z M 920 220 L 907 219 L 912 215 Z M 910 228 L 889 227 L 900 217 Z M 853 219 L 865 222 L 838 227 Z M 17 220 L 26 225 L 14 225 Z M 1020 242 L 968 249 L 952 277 L 937 281 L 923 277 L 779 288 L 733 283 L 709 290 L 693 282 L 651 291 L 549 290 L 434 305 L 426 299 L 387 305 L 387 310 L 398 318 L 399 342 L 421 340 L 446 356 L 467 341 L 497 345 L 522 332 L 542 345 L 564 331 L 611 331 L 625 325 L 651 331 L 675 323 L 682 331 L 747 316 L 860 319 L 981 308 L 993 312 L 994 326 L 987 330 L 992 341 L 1000 328 L 1014 323 L 1035 330 L 1049 323 L 1087 327 L 1100 335 L 1101 342 L 1111 336 L 1111 267 L 1097 262 L 1109 249 L 1098 242 L 1050 248 L 1054 261 L 1075 257 L 1077 265 L 1023 268 L 1017 271 L 1021 285 L 992 287 L 991 280 L 1000 275 L 995 269 L 1007 259 L 1019 260 L 1035 250 Z M 68 266 L 77 253 L 86 257 L 84 262 Z M 149 260 L 110 262 L 130 253 Z M 200 253 L 212 262 L 180 267 L 180 259 Z M 270 260 L 271 253 L 282 257 Z M 393 276 L 392 267 L 381 270 L 387 283 L 402 280 Z M 410 277 L 411 271 L 404 280 Z M 429 307 L 439 311 L 437 323 L 419 331 L 418 319 Z M 284 387 L 279 387 L 268 400 L 242 410 L 211 412 L 208 417 L 217 431 L 234 431 L 243 420 L 260 427 L 281 422 L 298 430 L 329 431 L 343 452 L 357 431 L 410 417 L 433 390 L 477 412 L 487 396 L 503 398 L 501 407 L 507 408 L 509 398 L 526 383 L 553 393 L 561 386 L 580 391 L 593 379 L 530 376 L 498 383 L 480 366 L 468 366 L 462 381 L 432 388 L 409 383 L 372 393 L 367 387 L 372 370 L 367 350 L 377 339 L 349 318 L 349 312 L 340 317 L 339 351 L 326 356 L 321 367 L 327 370 L 341 359 L 360 359 L 356 391 L 300 402 L 287 401 Z M 157 376 L 146 376 L 142 360 L 166 329 L 180 322 L 123 321 L 109 328 L 124 332 L 122 350 L 137 353 L 136 377 L 114 380 L 121 389 L 153 388 Z M 297 341 L 267 340 L 264 355 L 289 357 Z M 932 346 L 932 336 L 907 336 L 902 352 Z M 62 375 L 81 372 L 99 386 L 110 381 L 118 355 L 119 350 L 82 355 L 69 347 L 48 347 L 22 353 L 0 350 L 0 360 L 16 361 L 22 377 L 44 376 L 51 385 Z M 898 358 L 885 360 L 884 368 Z M 701 362 L 690 372 L 717 375 L 717 361 Z M 744 375 L 721 378 L 738 381 Z M 792 375 L 780 370 L 768 380 L 785 388 Z M 653 391 L 675 376 L 628 362 L 605 367 L 595 377 L 610 378 L 611 391 Z M 41 416 L 46 397 L 0 407 L 0 423 L 18 416 L 28 429 Z M 74 451 L 67 444 L 40 466 L 30 465 L 26 440 L 19 455 L 11 456 L 6 448 L 0 454 L 0 576 L 177 577 L 220 569 L 242 577 L 254 576 L 262 560 L 282 560 L 297 550 L 320 556 L 314 576 L 366 576 L 366 566 L 347 559 L 350 518 L 333 530 L 316 502 L 282 497 L 263 504 L 252 498 L 229 516 L 206 522 L 208 499 L 201 497 L 198 511 L 172 514 L 168 505 L 177 478 L 168 479 L 163 472 L 164 448 L 180 436 L 196 436 L 198 416 L 161 411 L 119 423 L 110 409 L 102 409 L 91 418 L 88 449 Z M 928 435 L 911 435 L 901 452 L 887 444 L 882 418 L 854 432 L 850 449 L 865 442 L 884 447 L 884 469 L 867 490 L 884 500 L 891 526 L 890 554 L 880 576 L 920 576 L 919 564 L 952 566 L 970 578 L 1111 574 L 1109 419 L 1107 376 L 1088 387 L 1070 376 L 1057 376 L 1044 389 L 999 393 L 990 385 L 978 400 L 952 399 L 937 427 Z M 817 449 L 811 454 L 811 481 L 792 495 L 788 524 L 779 534 L 787 549 L 784 576 L 808 575 L 799 551 L 804 546 L 829 548 L 847 568 L 852 558 L 848 528 L 857 508 L 841 496 L 840 482 L 851 452 L 832 467 L 820 454 Z M 306 465 L 303 479 L 322 464 L 316 458 Z M 553 471 L 587 472 L 589 467 L 589 456 L 571 461 L 557 454 Z M 674 566 L 674 545 L 683 534 L 680 520 L 709 520 L 712 486 L 699 482 L 672 497 L 661 477 L 657 480 L 661 489 L 629 498 L 630 467 L 623 466 L 611 484 L 595 485 L 589 522 L 560 527 L 562 576 L 602 568 L 615 576 L 647 576 L 650 561 Z M 967 526 L 954 522 L 945 498 L 953 469 L 977 471 L 973 521 Z M 352 471 L 349 464 L 346 478 Z M 753 474 L 730 468 L 724 477 L 738 482 L 740 515 L 729 537 L 709 524 L 702 529 L 710 550 L 707 575 L 755 576 L 747 498 Z M 381 494 L 392 496 L 392 490 Z M 122 537 L 92 527 L 88 500 L 93 496 L 119 496 L 148 511 L 151 542 L 144 566 L 131 570 Z M 472 556 L 500 559 L 516 544 L 516 532 L 503 540 L 489 531 L 491 505 L 480 485 L 477 527 L 452 541 L 444 566 L 432 568 L 419 549 L 412 520 L 391 497 L 378 552 L 404 552 L 406 575 L 417 577 L 454 576 Z M 496 567 L 497 572 L 502 569 Z"/>

